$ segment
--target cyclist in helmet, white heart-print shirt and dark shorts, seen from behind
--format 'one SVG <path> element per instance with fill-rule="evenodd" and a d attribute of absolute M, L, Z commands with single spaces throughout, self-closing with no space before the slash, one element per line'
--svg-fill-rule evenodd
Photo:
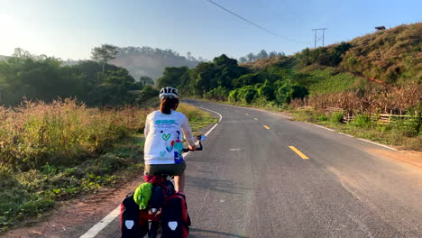
<path fill-rule="evenodd" d="M 145 122 L 145 175 L 173 175 L 176 192 L 183 193 L 186 163 L 182 157 L 182 138 L 188 142 L 189 150 L 195 151 L 197 146 L 188 118 L 176 112 L 179 105 L 178 89 L 161 88 L 160 100 L 160 110 L 148 114 Z"/>

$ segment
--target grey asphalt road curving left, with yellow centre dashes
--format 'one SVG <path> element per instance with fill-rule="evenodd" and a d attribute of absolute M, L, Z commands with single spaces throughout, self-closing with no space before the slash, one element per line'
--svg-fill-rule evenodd
<path fill-rule="evenodd" d="M 205 151 L 186 159 L 189 237 L 422 237 L 422 171 L 368 152 L 388 149 L 275 114 L 189 103 L 223 115 Z M 96 237 L 119 237 L 118 219 Z"/>

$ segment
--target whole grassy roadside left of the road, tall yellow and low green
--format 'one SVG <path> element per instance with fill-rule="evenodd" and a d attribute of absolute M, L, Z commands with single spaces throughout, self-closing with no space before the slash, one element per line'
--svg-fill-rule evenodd
<path fill-rule="evenodd" d="M 99 110 L 73 100 L 0 107 L 0 232 L 141 172 L 144 120 L 152 110 Z M 179 111 L 194 131 L 216 123 L 190 105 Z"/>

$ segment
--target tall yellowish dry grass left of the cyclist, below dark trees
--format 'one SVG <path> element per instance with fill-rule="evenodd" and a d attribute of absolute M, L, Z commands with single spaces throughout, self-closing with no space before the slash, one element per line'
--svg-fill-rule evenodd
<path fill-rule="evenodd" d="M 87 108 L 71 99 L 0 107 L 0 164 L 27 170 L 86 160 L 130 130 L 142 130 L 146 114 L 134 107 Z"/>

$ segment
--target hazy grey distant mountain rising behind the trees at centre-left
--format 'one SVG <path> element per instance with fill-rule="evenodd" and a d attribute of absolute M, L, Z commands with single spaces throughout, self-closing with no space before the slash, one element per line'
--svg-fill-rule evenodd
<path fill-rule="evenodd" d="M 118 49 L 117 56 L 111 61 L 116 66 L 128 69 L 133 78 L 148 76 L 154 80 L 161 78 L 166 67 L 187 66 L 194 68 L 201 58 L 180 56 L 173 50 L 152 49 L 150 47 L 124 47 Z"/>

